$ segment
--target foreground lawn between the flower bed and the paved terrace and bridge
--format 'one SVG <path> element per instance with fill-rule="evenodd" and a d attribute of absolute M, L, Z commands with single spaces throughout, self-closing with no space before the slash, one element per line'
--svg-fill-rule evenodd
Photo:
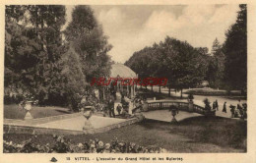
<path fill-rule="evenodd" d="M 177 125 L 145 120 L 143 122 L 87 136 L 65 136 L 72 143 L 98 138 L 110 142 L 114 136 L 120 140 L 135 142 L 143 146 L 163 147 L 170 152 L 246 152 L 246 122 L 213 117 L 186 119 Z M 5 140 L 21 142 L 31 135 L 5 134 Z M 36 143 L 53 143 L 52 136 L 40 135 Z"/>

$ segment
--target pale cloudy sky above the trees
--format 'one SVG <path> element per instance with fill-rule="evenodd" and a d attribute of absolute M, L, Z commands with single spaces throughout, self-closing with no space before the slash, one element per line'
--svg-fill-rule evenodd
<path fill-rule="evenodd" d="M 235 23 L 239 10 L 238 5 L 91 7 L 113 46 L 108 54 L 118 63 L 124 63 L 145 46 L 164 41 L 166 35 L 211 50 L 216 38 L 224 42 L 224 33 Z M 66 8 L 65 27 L 71 21 L 74 6 Z"/>

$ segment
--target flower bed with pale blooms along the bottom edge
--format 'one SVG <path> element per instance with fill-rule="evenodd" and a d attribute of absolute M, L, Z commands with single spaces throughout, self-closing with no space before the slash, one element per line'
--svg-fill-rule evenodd
<path fill-rule="evenodd" d="M 53 136 L 54 143 L 45 145 L 35 144 L 33 139 L 23 141 L 21 144 L 4 140 L 4 153 L 166 153 L 160 147 L 144 147 L 133 142 L 124 142 L 114 137 L 110 142 L 104 143 L 99 139 L 90 139 L 88 142 L 72 144 L 64 136 Z"/>

